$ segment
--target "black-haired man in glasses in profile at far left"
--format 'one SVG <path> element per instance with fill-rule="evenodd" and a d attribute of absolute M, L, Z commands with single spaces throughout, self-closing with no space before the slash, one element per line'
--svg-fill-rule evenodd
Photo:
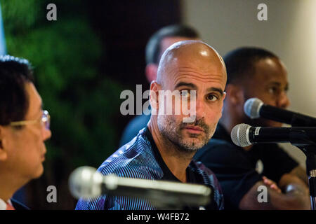
<path fill-rule="evenodd" d="M 43 174 L 51 131 L 26 59 L 0 57 L 0 96 L 0 210 L 27 209 L 11 197 Z"/>

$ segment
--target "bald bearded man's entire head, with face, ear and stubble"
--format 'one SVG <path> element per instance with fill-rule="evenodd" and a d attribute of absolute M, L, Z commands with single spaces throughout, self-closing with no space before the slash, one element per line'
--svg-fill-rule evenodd
<path fill-rule="evenodd" d="M 152 113 L 150 125 L 157 124 L 165 145 L 190 154 L 211 139 L 221 117 L 226 79 L 223 59 L 206 43 L 180 41 L 167 48 L 157 80 L 150 85 L 150 104 L 158 111 Z M 167 92 L 174 97 L 164 94 Z M 190 108 L 190 115 L 183 106 Z M 176 108 L 181 110 L 179 114 L 165 113 L 165 109 L 175 112 Z"/>

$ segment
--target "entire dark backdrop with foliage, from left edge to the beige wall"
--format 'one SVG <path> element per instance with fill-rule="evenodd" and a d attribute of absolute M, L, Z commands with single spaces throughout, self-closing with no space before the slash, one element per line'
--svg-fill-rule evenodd
<path fill-rule="evenodd" d="M 57 21 L 46 20 L 55 3 Z M 180 1 L 1 1 L 8 54 L 25 57 L 44 109 L 51 114 L 44 174 L 23 188 L 31 209 L 74 209 L 68 177 L 82 165 L 98 167 L 119 146 L 133 116 L 122 116 L 122 90 L 149 88 L 145 45 L 165 25 L 180 23 Z M 46 201 L 56 186 L 57 203 Z"/>

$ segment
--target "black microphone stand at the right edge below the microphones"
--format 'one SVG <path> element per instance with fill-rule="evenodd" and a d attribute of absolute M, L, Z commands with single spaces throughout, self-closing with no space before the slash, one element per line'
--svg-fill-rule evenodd
<path fill-rule="evenodd" d="M 300 148 L 306 155 L 306 174 L 308 175 L 308 186 L 310 188 L 310 206 L 312 210 L 316 210 L 316 142 L 309 139 L 305 132 L 294 132 L 290 135 L 291 139 L 303 139 L 302 144 L 291 144 Z"/>

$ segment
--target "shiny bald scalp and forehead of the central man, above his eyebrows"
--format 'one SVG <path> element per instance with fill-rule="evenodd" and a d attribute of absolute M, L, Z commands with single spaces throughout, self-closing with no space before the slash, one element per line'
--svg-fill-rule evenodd
<path fill-rule="evenodd" d="M 179 69 L 183 71 L 186 68 L 196 69 L 201 78 L 207 78 L 208 75 L 222 76 L 225 80 L 223 84 L 226 83 L 227 75 L 222 57 L 202 41 L 180 41 L 167 48 L 159 62 L 157 83 L 162 87 L 166 86 L 166 83 L 177 78 Z"/>

